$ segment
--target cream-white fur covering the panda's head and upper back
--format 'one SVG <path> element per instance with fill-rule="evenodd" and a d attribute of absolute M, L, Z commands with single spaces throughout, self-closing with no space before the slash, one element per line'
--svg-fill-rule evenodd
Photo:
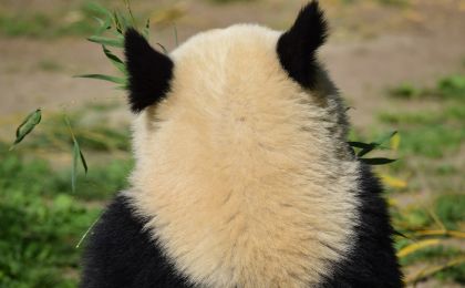
<path fill-rule="evenodd" d="M 280 34 L 239 24 L 193 37 L 169 55 L 165 100 L 133 125 L 126 196 L 202 287 L 309 287 L 351 249 L 360 167 L 344 109 L 322 70 L 312 91 L 289 78 Z"/>

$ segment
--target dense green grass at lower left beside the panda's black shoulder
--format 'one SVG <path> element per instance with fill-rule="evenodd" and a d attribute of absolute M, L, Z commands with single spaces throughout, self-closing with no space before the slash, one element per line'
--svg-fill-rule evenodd
<path fill-rule="evenodd" d="M 2 145 L 2 151 L 7 145 Z M 0 286 L 75 287 L 82 235 L 101 205 L 125 187 L 131 163 L 93 166 L 70 192 L 70 172 L 44 160 L 8 154 L 0 163 Z M 83 178 L 83 177 L 81 177 Z"/>

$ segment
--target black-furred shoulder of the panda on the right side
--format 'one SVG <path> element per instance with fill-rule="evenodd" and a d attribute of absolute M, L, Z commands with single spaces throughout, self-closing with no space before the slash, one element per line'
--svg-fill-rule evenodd
<path fill-rule="evenodd" d="M 382 186 L 370 167 L 360 174 L 362 219 L 347 260 L 333 264 L 334 274 L 321 287 L 402 287 L 402 274 L 393 248 L 386 203 Z"/>

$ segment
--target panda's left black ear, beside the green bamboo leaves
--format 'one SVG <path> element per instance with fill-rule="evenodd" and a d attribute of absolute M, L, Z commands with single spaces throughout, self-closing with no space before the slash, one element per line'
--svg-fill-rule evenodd
<path fill-rule="evenodd" d="M 173 61 L 154 50 L 147 40 L 130 28 L 124 34 L 128 73 L 130 105 L 134 113 L 159 102 L 169 90 Z"/>

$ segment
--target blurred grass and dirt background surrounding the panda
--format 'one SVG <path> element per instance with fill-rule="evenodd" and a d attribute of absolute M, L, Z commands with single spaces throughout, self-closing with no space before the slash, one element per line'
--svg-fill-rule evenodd
<path fill-rule="evenodd" d="M 304 2 L 131 7 L 141 25 L 151 19 L 151 42 L 169 51 L 198 31 L 238 22 L 285 30 Z M 351 140 L 399 132 L 373 155 L 397 158 L 375 171 L 400 233 L 406 284 L 464 287 L 465 0 L 320 2 L 331 25 L 320 58 L 351 107 Z M 127 11 L 124 1 L 97 3 Z M 0 287 L 75 287 L 86 230 L 126 187 L 133 160 L 125 93 L 73 78 L 118 73 L 101 45 L 86 41 L 99 13 L 85 0 L 0 0 Z M 41 123 L 10 151 L 37 109 Z"/>

